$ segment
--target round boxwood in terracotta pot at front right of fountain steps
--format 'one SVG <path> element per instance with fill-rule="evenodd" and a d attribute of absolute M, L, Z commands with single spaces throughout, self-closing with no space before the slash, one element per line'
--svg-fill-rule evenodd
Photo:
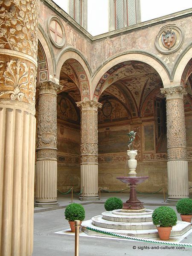
<path fill-rule="evenodd" d="M 172 226 L 177 224 L 176 212 L 169 206 L 160 206 L 152 214 L 153 224 L 157 226 L 161 240 L 169 240 Z"/>

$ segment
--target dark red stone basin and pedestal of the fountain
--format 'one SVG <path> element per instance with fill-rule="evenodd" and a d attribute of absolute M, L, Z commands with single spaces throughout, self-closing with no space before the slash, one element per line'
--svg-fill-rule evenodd
<path fill-rule="evenodd" d="M 123 203 L 122 211 L 143 212 L 145 208 L 143 203 L 137 199 L 136 186 L 147 180 L 148 177 L 116 177 L 117 180 L 130 185 L 130 195 L 126 203 Z"/>

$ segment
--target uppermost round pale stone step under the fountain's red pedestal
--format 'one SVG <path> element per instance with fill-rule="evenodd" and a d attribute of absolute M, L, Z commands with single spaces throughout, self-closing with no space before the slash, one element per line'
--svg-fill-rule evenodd
<path fill-rule="evenodd" d="M 152 214 L 141 215 L 141 216 L 127 216 L 127 215 L 117 215 L 113 214 L 111 211 L 102 212 L 102 218 L 107 221 L 116 222 L 150 222 L 152 221 Z"/>

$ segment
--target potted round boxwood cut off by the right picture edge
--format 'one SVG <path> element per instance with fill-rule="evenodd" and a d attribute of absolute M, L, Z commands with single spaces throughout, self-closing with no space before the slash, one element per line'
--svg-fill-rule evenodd
<path fill-rule="evenodd" d="M 177 212 L 180 213 L 182 221 L 191 222 L 192 218 L 192 199 L 182 198 L 176 204 Z"/>

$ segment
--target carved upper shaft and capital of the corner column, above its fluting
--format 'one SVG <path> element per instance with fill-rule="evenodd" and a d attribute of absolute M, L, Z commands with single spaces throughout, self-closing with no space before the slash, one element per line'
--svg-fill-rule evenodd
<path fill-rule="evenodd" d="M 77 102 L 81 108 L 81 163 L 98 163 L 98 111 L 102 104 Z"/>

